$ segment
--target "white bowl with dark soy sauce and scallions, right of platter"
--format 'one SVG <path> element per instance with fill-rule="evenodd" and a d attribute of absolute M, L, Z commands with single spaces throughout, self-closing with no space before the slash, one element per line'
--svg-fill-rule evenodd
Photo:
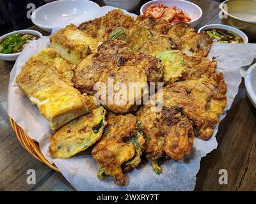
<path fill-rule="evenodd" d="M 214 42 L 248 43 L 248 37 L 243 31 L 229 25 L 205 25 L 198 30 L 198 33 L 207 33 Z"/>

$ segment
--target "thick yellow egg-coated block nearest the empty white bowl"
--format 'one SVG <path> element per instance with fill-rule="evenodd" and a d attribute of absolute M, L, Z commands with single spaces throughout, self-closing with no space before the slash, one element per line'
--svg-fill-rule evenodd
<path fill-rule="evenodd" d="M 76 25 L 69 24 L 51 36 L 51 47 L 57 50 L 63 59 L 77 64 L 91 52 L 97 50 L 98 41 L 80 31 Z"/>

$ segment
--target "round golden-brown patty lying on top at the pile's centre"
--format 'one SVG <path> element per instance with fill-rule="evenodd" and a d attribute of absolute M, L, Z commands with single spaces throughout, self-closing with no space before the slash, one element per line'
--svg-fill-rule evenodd
<path fill-rule="evenodd" d="M 119 114 L 136 111 L 143 99 L 143 91 L 147 88 L 147 76 L 135 66 L 119 66 L 109 69 L 102 73 L 99 81 L 106 85 L 106 89 L 97 90 L 99 93 L 102 91 L 99 98 L 102 99 L 106 94 L 104 106 L 111 112 Z M 106 92 L 106 90 L 111 89 L 112 85 L 113 92 L 109 96 L 109 91 Z"/>

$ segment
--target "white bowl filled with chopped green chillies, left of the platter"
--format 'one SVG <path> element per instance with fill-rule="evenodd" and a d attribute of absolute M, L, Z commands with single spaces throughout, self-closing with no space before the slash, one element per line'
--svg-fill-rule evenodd
<path fill-rule="evenodd" d="M 0 59 L 15 61 L 30 41 L 37 40 L 42 36 L 40 32 L 33 30 L 20 30 L 4 34 L 0 37 Z"/>

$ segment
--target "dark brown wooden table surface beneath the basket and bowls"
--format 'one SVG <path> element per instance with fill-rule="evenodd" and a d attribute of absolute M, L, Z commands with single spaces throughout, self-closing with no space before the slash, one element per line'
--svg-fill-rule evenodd
<path fill-rule="evenodd" d="M 100 1 L 98 3 L 102 4 Z M 218 3 L 193 0 L 204 11 L 198 27 L 220 23 Z M 138 9 L 134 10 L 138 13 Z M 31 27 L 38 29 L 38 27 Z M 44 32 L 42 32 L 44 33 Z M 46 33 L 44 33 L 46 34 Z M 0 190 L 1 191 L 74 191 L 61 173 L 37 161 L 18 142 L 6 112 L 8 82 L 13 62 L 0 60 Z M 250 103 L 244 82 L 221 121 L 217 135 L 218 148 L 202 159 L 195 191 L 256 190 L 256 109 Z M 28 169 L 36 171 L 36 185 L 28 185 Z M 221 169 L 228 172 L 228 184 L 220 185 Z"/>

